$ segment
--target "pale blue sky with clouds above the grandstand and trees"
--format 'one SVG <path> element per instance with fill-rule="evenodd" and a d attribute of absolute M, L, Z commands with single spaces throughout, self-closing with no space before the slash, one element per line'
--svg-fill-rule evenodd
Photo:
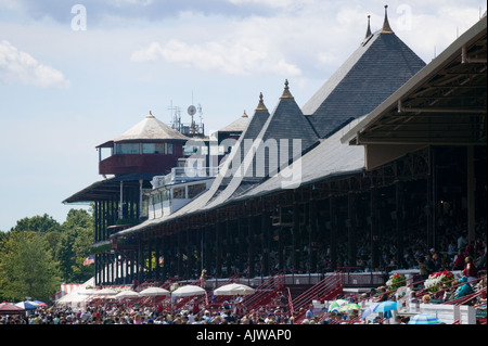
<path fill-rule="evenodd" d="M 285 79 L 305 104 L 389 23 L 428 63 L 486 2 L 338 0 L 0 0 L 0 230 L 65 220 L 62 201 L 101 179 L 95 146 L 149 111 L 201 104 L 207 132 L 272 111 Z M 80 10 L 79 4 L 82 7 Z M 85 26 L 86 24 L 86 26 Z M 185 118 L 188 117 L 188 119 Z"/>

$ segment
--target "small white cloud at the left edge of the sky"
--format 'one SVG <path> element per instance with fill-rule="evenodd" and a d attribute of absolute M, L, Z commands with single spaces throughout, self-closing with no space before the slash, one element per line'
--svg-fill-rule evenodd
<path fill-rule="evenodd" d="M 20 81 L 41 88 L 68 88 L 69 81 L 63 74 L 36 61 L 9 41 L 0 41 L 0 80 Z"/>

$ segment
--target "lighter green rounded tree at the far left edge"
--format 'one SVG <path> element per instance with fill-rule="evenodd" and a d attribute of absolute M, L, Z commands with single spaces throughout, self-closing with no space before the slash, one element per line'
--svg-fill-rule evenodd
<path fill-rule="evenodd" d="M 10 232 L 0 261 L 0 295 L 4 299 L 33 297 L 48 300 L 59 290 L 57 262 L 42 234 Z"/>

